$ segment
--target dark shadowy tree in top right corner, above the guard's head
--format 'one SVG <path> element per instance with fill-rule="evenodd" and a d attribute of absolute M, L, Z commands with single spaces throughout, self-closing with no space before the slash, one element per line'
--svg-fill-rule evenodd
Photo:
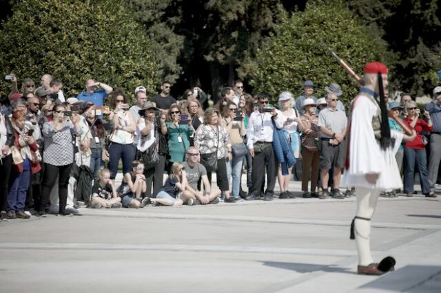
<path fill-rule="evenodd" d="M 393 84 L 413 95 L 431 93 L 441 69 L 437 0 L 348 0 L 349 8 L 387 41 L 396 54 Z"/>

